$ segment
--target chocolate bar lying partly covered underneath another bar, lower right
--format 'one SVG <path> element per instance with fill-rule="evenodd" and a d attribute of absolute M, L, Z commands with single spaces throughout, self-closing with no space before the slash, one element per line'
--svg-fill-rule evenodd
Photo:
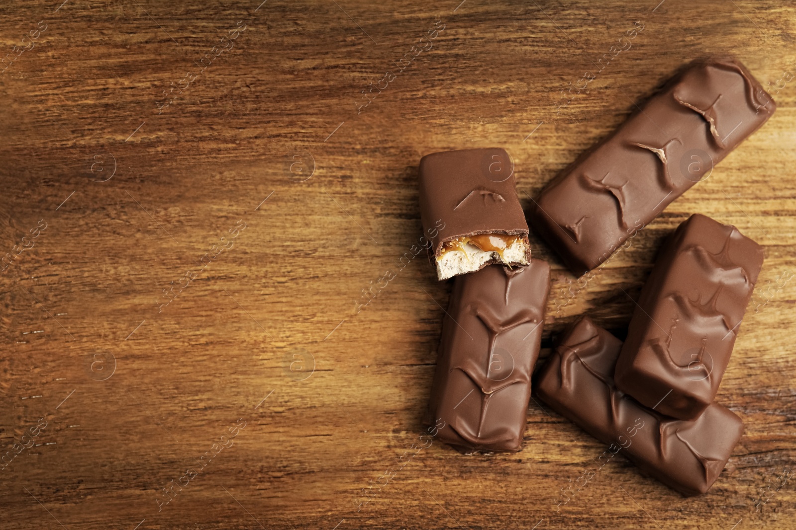
<path fill-rule="evenodd" d="M 622 342 L 584 318 L 540 370 L 536 392 L 562 416 L 610 444 L 641 470 L 686 495 L 716 482 L 743 434 L 743 422 L 711 404 L 696 421 L 674 420 L 642 407 L 614 386 Z"/>

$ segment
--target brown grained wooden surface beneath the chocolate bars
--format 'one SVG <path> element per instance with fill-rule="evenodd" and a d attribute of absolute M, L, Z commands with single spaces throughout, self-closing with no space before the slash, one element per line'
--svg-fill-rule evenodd
<path fill-rule="evenodd" d="M 3 2 L 3 49 L 33 48 L 0 74 L 0 527 L 796 528 L 796 9 L 459 2 Z M 712 53 L 778 92 L 771 121 L 586 288 L 532 242 L 554 268 L 542 362 L 577 315 L 621 335 L 691 213 L 766 247 L 716 485 L 684 498 L 617 457 L 556 507 L 605 447 L 533 400 L 517 455 L 416 453 L 451 289 L 397 265 L 419 158 L 503 146 L 527 207 Z"/>

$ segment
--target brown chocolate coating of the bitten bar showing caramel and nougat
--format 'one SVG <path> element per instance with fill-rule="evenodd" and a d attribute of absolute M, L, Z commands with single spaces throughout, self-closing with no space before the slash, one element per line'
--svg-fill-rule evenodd
<path fill-rule="evenodd" d="M 443 243 L 478 234 L 521 236 L 531 259 L 528 223 L 517 198 L 513 161 L 504 149 L 463 149 L 420 159 L 420 219 L 434 257 Z M 441 220 L 441 222 L 440 222 Z M 490 265 L 495 260 L 482 265 Z"/>

